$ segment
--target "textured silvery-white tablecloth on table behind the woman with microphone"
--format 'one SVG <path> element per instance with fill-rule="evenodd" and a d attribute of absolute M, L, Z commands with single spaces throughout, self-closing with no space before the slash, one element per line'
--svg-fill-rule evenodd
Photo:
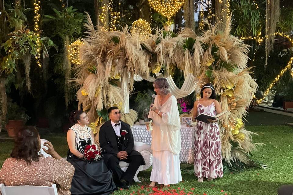
<path fill-rule="evenodd" d="M 151 145 L 151 132 L 147 131 L 145 125 L 134 125 L 132 127 L 132 134 L 134 141 L 141 141 L 145 144 Z M 181 126 L 181 151 L 180 162 L 192 164 L 194 162 L 194 128 Z"/>

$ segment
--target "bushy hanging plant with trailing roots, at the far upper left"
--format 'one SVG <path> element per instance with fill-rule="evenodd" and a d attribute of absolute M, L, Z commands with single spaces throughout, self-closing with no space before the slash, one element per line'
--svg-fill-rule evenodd
<path fill-rule="evenodd" d="M 24 23 L 26 22 L 25 12 L 31 9 L 23 9 L 20 5 L 8 9 L 6 16 L 8 18 L 9 26 L 13 29 L 8 34 L 9 39 L 2 44 L 6 52 L 6 56 L 1 62 L 0 73 L 10 74 L 16 71 L 18 61 L 24 63 L 26 86 L 28 91 L 31 91 L 30 69 L 31 69 L 31 56 L 37 56 L 39 53 L 38 44 L 41 45 L 43 56 L 49 56 L 46 48 L 55 46 L 52 40 L 48 37 L 41 37 L 38 40 L 37 34 L 29 29 L 26 29 Z M 46 44 L 44 44 L 44 42 Z"/>

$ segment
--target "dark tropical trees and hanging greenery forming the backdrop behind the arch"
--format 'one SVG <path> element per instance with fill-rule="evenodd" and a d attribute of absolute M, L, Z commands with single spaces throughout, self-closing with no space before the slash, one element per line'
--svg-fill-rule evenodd
<path fill-rule="evenodd" d="M 200 36 L 202 30 L 210 27 L 203 23 L 204 19 L 215 24 L 218 1 L 186 1 L 182 9 L 171 18 L 175 24 L 174 32 L 182 27 L 191 28 Z M 230 34 L 244 40 L 250 45 L 248 51 L 248 67 L 254 73 L 253 79 L 258 84 L 256 98 L 263 92 L 284 69 L 293 55 L 288 38 L 276 35 L 272 49 L 267 50 L 266 37 L 266 0 L 231 0 L 223 1 L 231 13 Z M 292 37 L 293 2 L 290 0 L 271 0 L 278 4 L 279 14 L 270 16 L 278 21 L 274 32 L 282 32 Z M 167 18 L 150 9 L 147 0 L 46 0 L 46 1 L 1 1 L 0 2 L 0 103 L 1 125 L 5 127 L 7 108 L 23 108 L 22 113 L 28 116 L 27 124 L 49 128 L 61 132 L 68 129 L 68 113 L 78 107 L 76 101 L 77 88 L 70 83 L 76 69 L 70 54 L 70 44 L 79 38 L 85 38 L 86 13 L 93 25 L 103 24 L 109 30 L 122 30 L 131 26 L 139 18 L 150 23 L 152 32 L 161 29 Z M 36 16 L 36 11 L 39 16 Z M 194 15 L 194 12 L 196 14 Z M 214 14 L 214 15 L 213 15 Z M 196 16 L 196 17 L 192 17 Z M 198 16 L 198 17 L 197 17 Z M 225 16 L 226 17 L 226 16 Z M 224 18 L 225 18 L 224 17 Z M 163 37 L 167 34 L 163 34 Z M 170 36 L 170 35 L 168 35 Z M 164 37 L 164 38 L 165 38 Z M 113 40 L 114 42 L 118 40 Z M 184 49 L 192 51 L 192 38 L 184 44 Z M 192 53 L 192 52 L 191 52 Z M 268 53 L 266 55 L 266 53 Z M 267 59 L 266 59 L 267 58 Z M 224 65 L 223 65 L 224 66 Z M 229 69 L 226 68 L 226 69 Z M 95 72 L 95 69 L 89 71 Z M 180 88 L 184 81 L 183 70 L 175 67 L 173 80 Z M 115 76 L 115 75 L 114 75 Z M 115 85 L 115 80 L 113 81 Z M 146 102 L 150 101 L 152 83 L 134 82 L 134 93 L 130 98 L 130 108 L 145 115 Z M 271 94 L 292 101 L 293 80 L 289 71 L 284 73 L 273 86 Z M 138 90 L 138 91 L 136 91 Z M 179 100 L 179 107 L 188 112 L 193 105 L 196 94 Z M 16 108 L 17 109 L 17 108 Z M 106 113 L 101 111 L 101 115 Z M 17 115 L 17 114 L 16 114 Z M 238 146 L 233 146 L 238 147 Z"/>

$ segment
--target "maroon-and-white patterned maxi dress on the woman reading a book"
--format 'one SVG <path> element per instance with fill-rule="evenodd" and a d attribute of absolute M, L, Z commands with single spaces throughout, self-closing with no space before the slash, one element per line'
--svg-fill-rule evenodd
<path fill-rule="evenodd" d="M 216 115 L 214 102 L 209 106 L 197 104 L 197 114 Z M 216 122 L 198 121 L 194 139 L 194 174 L 198 177 L 217 178 L 223 176 L 219 125 Z"/>

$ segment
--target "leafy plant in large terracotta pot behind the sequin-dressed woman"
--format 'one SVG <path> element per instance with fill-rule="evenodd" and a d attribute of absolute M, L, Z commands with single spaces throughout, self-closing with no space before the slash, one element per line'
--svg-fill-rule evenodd
<path fill-rule="evenodd" d="M 23 128 L 27 120 L 30 119 L 25 111 L 25 108 L 21 108 L 16 103 L 8 103 L 6 129 L 9 137 L 16 137 L 18 131 Z"/>

